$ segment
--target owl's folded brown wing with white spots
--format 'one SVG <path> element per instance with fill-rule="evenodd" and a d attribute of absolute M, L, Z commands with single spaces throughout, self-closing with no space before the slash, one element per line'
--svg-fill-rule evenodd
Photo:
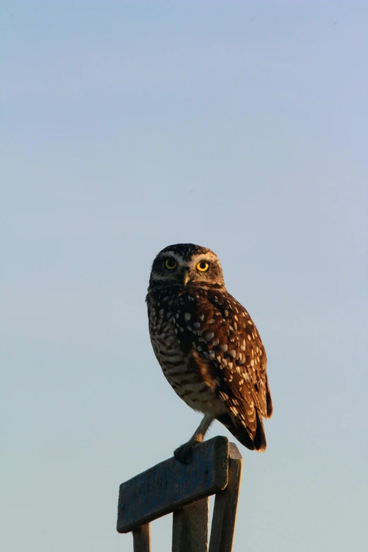
<path fill-rule="evenodd" d="M 183 293 L 180 302 L 180 324 L 190 330 L 187 338 L 194 334 L 192 343 L 183 345 L 192 348 L 204 381 L 228 408 L 229 420 L 220 421 L 228 429 L 231 423 L 245 427 L 252 441 L 259 441 L 255 448 L 264 450 L 262 417 L 271 417 L 272 401 L 266 352 L 250 315 L 230 294 L 217 290 L 197 288 L 192 296 Z"/>

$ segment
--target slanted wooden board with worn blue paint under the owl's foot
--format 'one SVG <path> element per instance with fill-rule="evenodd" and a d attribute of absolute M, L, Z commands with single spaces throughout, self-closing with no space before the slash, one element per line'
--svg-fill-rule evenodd
<path fill-rule="evenodd" d="M 228 439 L 218 436 L 196 446 L 188 465 L 170 458 L 122 483 L 116 528 L 128 533 L 227 484 Z"/>

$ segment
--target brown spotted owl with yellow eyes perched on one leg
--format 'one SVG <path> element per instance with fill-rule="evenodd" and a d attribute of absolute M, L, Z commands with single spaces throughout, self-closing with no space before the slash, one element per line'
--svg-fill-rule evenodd
<path fill-rule="evenodd" d="M 250 450 L 266 450 L 263 418 L 272 415 L 266 352 L 245 308 L 228 293 L 216 254 L 192 243 L 169 245 L 152 264 L 149 336 L 173 390 L 204 415 L 174 451 L 190 462 L 211 422 L 219 420 Z"/>

